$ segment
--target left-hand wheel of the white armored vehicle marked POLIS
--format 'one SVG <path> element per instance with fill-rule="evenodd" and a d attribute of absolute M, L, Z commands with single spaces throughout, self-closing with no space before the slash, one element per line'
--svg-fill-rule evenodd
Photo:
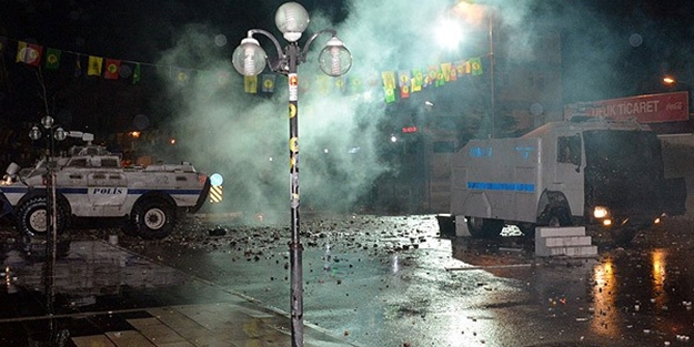
<path fill-rule="evenodd" d="M 48 200 L 46 196 L 36 196 L 24 202 L 18 210 L 17 226 L 19 231 L 28 236 L 46 236 Z M 63 203 L 56 204 L 56 224 L 58 234 L 62 233 L 68 224 L 68 213 Z"/>

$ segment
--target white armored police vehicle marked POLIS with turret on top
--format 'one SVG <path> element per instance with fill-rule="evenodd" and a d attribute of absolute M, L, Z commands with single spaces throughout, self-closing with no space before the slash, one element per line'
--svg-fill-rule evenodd
<path fill-rule="evenodd" d="M 178 217 L 204 204 L 209 177 L 190 163 L 123 167 L 119 154 L 91 144 L 93 135 L 84 134 L 84 140 L 87 145 L 50 163 L 42 160 L 21 170 L 10 164 L 0 182 L 0 215 L 13 214 L 18 229 L 29 236 L 44 235 L 48 211 L 54 205 L 59 232 L 72 217 L 125 217 L 125 233 L 163 238 Z M 54 167 L 54 193 L 47 190 L 49 164 Z"/>

